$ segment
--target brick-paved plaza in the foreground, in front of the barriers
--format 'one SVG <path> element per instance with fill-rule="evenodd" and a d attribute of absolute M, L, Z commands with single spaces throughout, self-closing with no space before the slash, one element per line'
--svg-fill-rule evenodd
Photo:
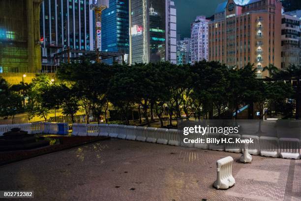
<path fill-rule="evenodd" d="M 35 201 L 301 201 L 301 160 L 240 155 L 111 139 L 2 166 L 0 190 L 33 190 Z M 226 156 L 236 185 L 216 190 Z"/>

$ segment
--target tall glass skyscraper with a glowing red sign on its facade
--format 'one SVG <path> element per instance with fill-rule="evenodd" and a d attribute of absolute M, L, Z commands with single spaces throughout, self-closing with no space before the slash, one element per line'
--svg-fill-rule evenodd
<path fill-rule="evenodd" d="M 173 0 L 129 0 L 129 63 L 176 60 Z"/>

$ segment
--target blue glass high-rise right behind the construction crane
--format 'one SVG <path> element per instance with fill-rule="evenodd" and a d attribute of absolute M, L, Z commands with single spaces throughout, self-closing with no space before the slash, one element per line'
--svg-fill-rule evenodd
<path fill-rule="evenodd" d="M 128 54 L 128 0 L 110 0 L 101 18 L 101 51 Z"/>

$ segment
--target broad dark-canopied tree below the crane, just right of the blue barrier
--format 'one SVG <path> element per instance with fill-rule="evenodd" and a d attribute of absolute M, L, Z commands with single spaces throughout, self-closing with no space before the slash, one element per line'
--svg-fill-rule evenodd
<path fill-rule="evenodd" d="M 63 64 L 58 70 L 59 79 L 67 81 L 78 91 L 81 106 L 85 109 L 86 123 L 90 115 L 99 122 L 100 115 L 107 105 L 108 85 L 114 71 L 120 66 L 105 63 L 91 63 L 84 59 L 79 63 Z"/>

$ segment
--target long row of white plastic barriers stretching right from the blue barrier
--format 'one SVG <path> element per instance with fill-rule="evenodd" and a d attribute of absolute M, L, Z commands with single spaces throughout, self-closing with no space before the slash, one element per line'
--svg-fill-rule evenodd
<path fill-rule="evenodd" d="M 125 126 L 118 124 L 73 124 L 72 135 L 74 136 L 110 136 L 126 140 L 136 140 L 142 142 L 170 144 L 176 146 L 187 146 L 201 149 L 211 149 L 218 151 L 227 151 L 235 153 L 243 153 L 243 144 L 237 143 L 236 139 L 251 139 L 253 143 L 248 144 L 249 154 L 261 155 L 267 157 L 281 157 L 288 159 L 300 159 L 301 142 L 300 139 L 291 138 L 274 138 L 274 137 L 258 137 L 254 135 L 229 134 L 224 136 L 217 133 L 189 134 L 183 136 L 180 130 L 163 129 L 141 126 Z M 222 138 L 232 139 L 233 143 L 215 144 L 215 143 L 183 143 L 183 138 L 194 140 L 197 138 L 204 139 Z"/>

